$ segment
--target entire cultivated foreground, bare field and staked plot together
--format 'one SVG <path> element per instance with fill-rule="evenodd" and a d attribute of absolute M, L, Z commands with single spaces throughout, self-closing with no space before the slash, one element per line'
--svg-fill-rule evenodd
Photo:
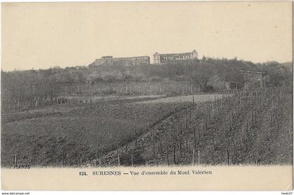
<path fill-rule="evenodd" d="M 292 102 L 283 88 L 109 98 L 6 113 L 1 163 L 139 166 L 292 163 Z"/>

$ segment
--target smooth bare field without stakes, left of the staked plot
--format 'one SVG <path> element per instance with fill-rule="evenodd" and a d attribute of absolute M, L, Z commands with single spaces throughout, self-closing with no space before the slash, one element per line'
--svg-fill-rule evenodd
<path fill-rule="evenodd" d="M 188 97 L 193 101 L 193 96 Z M 25 159 L 31 166 L 85 164 L 115 150 L 118 145 L 125 145 L 126 141 L 131 142 L 155 124 L 191 105 L 188 101 L 148 103 L 154 99 L 165 98 L 110 96 L 92 103 L 4 113 L 1 122 L 2 166 L 13 166 L 15 155 L 19 161 Z M 203 100 L 195 96 L 195 102 Z"/>

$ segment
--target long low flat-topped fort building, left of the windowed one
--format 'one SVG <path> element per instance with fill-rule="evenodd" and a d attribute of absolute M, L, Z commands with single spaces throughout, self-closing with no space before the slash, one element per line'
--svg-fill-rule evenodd
<path fill-rule="evenodd" d="M 95 59 L 95 62 L 90 66 L 135 66 L 135 65 L 148 65 L 150 64 L 150 57 L 138 56 L 138 57 L 112 57 L 104 56 L 100 59 Z"/>

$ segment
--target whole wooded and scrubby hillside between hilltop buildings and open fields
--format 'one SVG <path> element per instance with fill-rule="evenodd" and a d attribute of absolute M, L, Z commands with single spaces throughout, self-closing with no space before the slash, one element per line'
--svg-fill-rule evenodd
<path fill-rule="evenodd" d="M 285 64 L 284 64 L 285 65 Z M 29 71 L 1 71 L 2 109 L 37 108 L 83 96 L 184 95 L 223 91 L 211 81 L 238 82 L 240 71 L 261 71 L 269 75 L 269 86 L 291 85 L 292 72 L 277 62 L 253 64 L 237 59 L 203 58 L 148 66 L 83 66 Z M 288 65 L 287 65 L 288 67 Z M 63 96 L 65 99 L 60 100 Z M 78 101 L 80 101 L 78 99 Z"/>

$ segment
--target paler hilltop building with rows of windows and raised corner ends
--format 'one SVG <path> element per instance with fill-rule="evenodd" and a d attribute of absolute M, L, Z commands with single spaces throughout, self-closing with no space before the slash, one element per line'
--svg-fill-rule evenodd
<path fill-rule="evenodd" d="M 163 64 L 167 62 L 177 62 L 183 60 L 191 60 L 197 59 L 198 52 L 193 50 L 193 52 L 185 52 L 185 53 L 176 53 L 176 54 L 160 54 L 156 52 L 153 55 L 154 64 Z"/>

